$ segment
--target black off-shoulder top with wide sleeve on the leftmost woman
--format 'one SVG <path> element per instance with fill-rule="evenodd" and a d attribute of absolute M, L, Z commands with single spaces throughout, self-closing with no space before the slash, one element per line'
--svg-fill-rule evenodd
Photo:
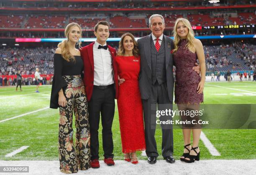
<path fill-rule="evenodd" d="M 59 107 L 59 90 L 67 86 L 62 76 L 81 75 L 83 77 L 83 61 L 81 56 L 74 56 L 75 61 L 67 62 L 61 57 L 61 54 L 54 54 L 54 77 L 51 86 L 50 108 L 57 109 Z"/>

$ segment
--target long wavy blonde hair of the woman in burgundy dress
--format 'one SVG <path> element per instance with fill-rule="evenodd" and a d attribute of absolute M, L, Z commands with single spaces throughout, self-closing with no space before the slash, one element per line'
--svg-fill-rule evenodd
<path fill-rule="evenodd" d="M 184 23 L 184 25 L 188 28 L 188 34 L 187 34 L 187 44 L 186 47 L 189 48 L 190 50 L 192 50 L 192 48 L 194 48 L 194 44 L 193 44 L 193 39 L 195 38 L 195 34 L 194 31 L 192 30 L 191 24 L 189 22 L 189 20 L 185 19 L 185 18 L 178 18 L 175 21 L 175 25 L 174 25 L 174 30 L 172 31 L 173 36 L 174 36 L 174 50 L 173 53 L 175 53 L 178 49 L 178 44 L 181 41 L 180 36 L 177 33 L 177 25 L 179 22 Z"/>

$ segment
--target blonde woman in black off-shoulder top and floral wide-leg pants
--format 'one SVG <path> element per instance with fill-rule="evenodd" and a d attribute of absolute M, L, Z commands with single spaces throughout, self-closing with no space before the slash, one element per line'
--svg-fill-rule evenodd
<path fill-rule="evenodd" d="M 70 23 L 65 29 L 66 40 L 59 43 L 54 54 L 54 78 L 51 108 L 58 108 L 60 170 L 74 173 L 90 167 L 90 130 L 87 97 L 82 81 L 83 61 L 80 51 L 81 27 Z M 75 115 L 76 142 L 73 145 L 72 117 Z"/>

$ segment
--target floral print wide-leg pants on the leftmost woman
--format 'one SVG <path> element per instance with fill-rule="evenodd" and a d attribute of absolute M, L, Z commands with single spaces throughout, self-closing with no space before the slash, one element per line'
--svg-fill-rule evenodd
<path fill-rule="evenodd" d="M 63 89 L 67 100 L 65 107 L 59 107 L 59 162 L 64 173 L 90 167 L 90 129 L 87 97 L 80 75 L 62 76 L 67 82 Z M 73 112 L 75 115 L 76 142 L 73 144 Z"/>

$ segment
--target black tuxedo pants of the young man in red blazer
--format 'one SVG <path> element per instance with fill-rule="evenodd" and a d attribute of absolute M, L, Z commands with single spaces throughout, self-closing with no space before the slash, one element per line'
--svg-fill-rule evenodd
<path fill-rule="evenodd" d="M 99 158 L 99 137 L 98 130 L 102 124 L 102 145 L 105 158 L 113 158 L 112 123 L 115 114 L 115 89 L 108 86 L 100 89 L 93 87 L 92 98 L 88 102 L 89 123 L 91 132 L 91 160 Z"/>

